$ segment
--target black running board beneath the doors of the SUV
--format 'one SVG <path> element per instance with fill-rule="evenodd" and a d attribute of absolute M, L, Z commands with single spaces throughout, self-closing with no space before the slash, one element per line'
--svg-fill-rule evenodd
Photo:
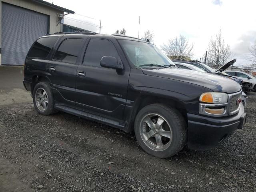
<path fill-rule="evenodd" d="M 124 123 L 122 124 L 122 122 L 111 120 L 111 119 L 108 119 L 108 118 L 105 118 L 105 117 L 102 117 L 102 116 L 99 116 L 99 115 L 91 114 L 91 113 L 88 113 L 88 112 L 84 112 L 84 111 L 81 111 L 81 110 L 77 110 L 77 109 L 74 109 L 74 108 L 71 108 L 71 107 L 68 107 L 68 106 L 58 105 L 58 104 L 54 105 L 54 108 L 56 108 L 60 111 L 72 114 L 72 115 L 76 115 L 76 116 L 88 119 L 88 120 L 93 120 L 93 121 L 96 121 L 96 122 L 99 122 L 99 123 L 102 123 L 102 124 L 113 126 L 115 128 L 120 128 L 122 130 L 124 129 Z"/>

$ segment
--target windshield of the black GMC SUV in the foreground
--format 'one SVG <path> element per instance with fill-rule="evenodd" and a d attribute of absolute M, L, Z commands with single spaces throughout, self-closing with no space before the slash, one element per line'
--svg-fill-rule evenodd
<path fill-rule="evenodd" d="M 155 45 L 132 40 L 119 40 L 119 42 L 130 62 L 136 67 L 175 66 Z"/>

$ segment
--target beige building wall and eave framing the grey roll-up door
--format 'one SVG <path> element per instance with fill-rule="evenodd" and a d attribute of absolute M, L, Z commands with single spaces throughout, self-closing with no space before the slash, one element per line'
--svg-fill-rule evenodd
<path fill-rule="evenodd" d="M 34 1 L 30 0 L 0 0 L 0 48 L 2 48 L 2 2 L 6 2 L 12 5 L 20 6 L 22 8 L 30 9 L 39 13 L 46 14 L 50 16 L 50 33 L 54 32 L 61 32 L 62 30 L 62 25 L 58 24 L 58 14 L 63 14 L 63 11 L 56 10 L 54 8 L 51 8 L 49 6 L 43 5 L 43 4 L 38 4 Z M 19 19 L 19 18 L 17 18 Z M 22 35 L 22 34 L 21 34 Z M 1 65 L 1 54 L 0 54 L 0 65 Z"/>

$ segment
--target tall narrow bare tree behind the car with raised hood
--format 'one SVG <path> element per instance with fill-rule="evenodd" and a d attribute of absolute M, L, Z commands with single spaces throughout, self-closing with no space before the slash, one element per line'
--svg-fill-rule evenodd
<path fill-rule="evenodd" d="M 211 38 L 208 46 L 207 59 L 215 64 L 215 68 L 222 66 L 227 59 L 231 57 L 231 50 L 228 44 L 225 44 L 221 30 L 218 34 Z"/>

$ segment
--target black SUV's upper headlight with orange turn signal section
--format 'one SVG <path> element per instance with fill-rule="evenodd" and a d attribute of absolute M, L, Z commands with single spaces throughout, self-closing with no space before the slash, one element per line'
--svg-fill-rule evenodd
<path fill-rule="evenodd" d="M 228 94 L 221 92 L 206 92 L 200 96 L 199 101 L 213 104 L 224 104 L 228 102 Z"/>

